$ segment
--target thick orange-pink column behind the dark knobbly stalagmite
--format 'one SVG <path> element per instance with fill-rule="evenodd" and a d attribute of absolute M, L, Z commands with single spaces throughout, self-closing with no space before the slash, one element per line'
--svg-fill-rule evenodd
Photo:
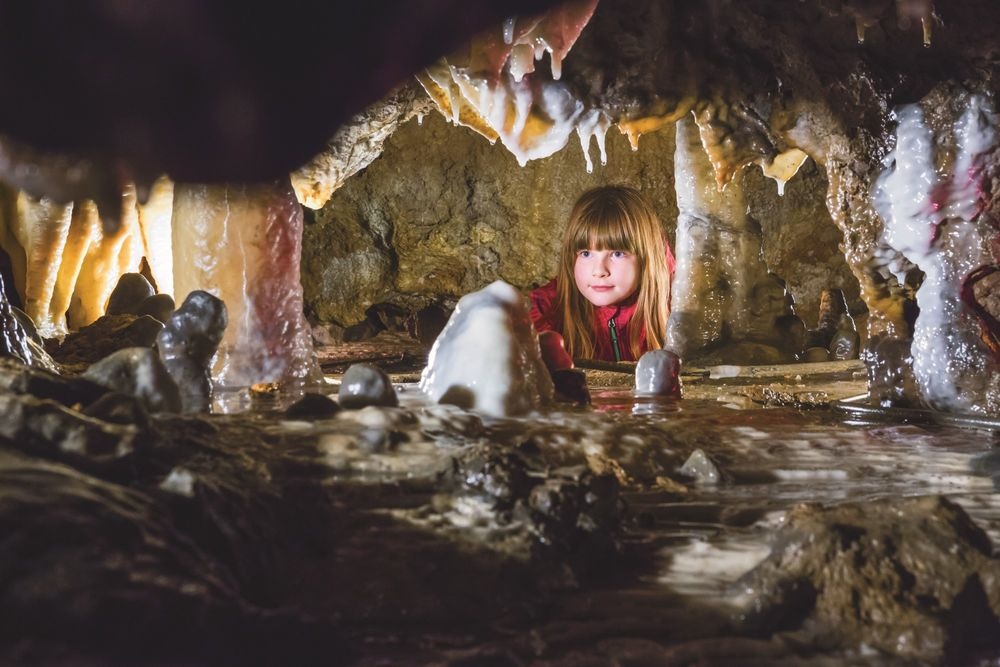
<path fill-rule="evenodd" d="M 291 185 L 177 185 L 172 224 L 177 293 L 203 289 L 229 311 L 215 382 L 316 381 L 299 279 L 302 208 Z"/>

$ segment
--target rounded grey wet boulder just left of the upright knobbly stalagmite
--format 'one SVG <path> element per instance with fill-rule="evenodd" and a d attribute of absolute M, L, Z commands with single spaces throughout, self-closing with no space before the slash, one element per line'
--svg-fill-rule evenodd
<path fill-rule="evenodd" d="M 180 412 L 181 396 L 159 355 L 145 347 L 119 350 L 83 374 L 113 391 L 140 399 L 151 412 Z"/>

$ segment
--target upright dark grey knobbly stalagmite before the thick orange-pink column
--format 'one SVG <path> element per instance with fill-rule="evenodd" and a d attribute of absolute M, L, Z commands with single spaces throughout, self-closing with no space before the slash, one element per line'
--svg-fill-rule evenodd
<path fill-rule="evenodd" d="M 210 363 L 226 330 L 226 304 L 195 290 L 167 319 L 156 338 L 160 358 L 180 389 L 186 413 L 208 409 L 212 396 Z"/>

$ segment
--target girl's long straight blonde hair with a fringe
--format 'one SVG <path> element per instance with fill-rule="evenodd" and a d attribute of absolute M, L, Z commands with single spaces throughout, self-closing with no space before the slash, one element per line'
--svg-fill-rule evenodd
<path fill-rule="evenodd" d="M 574 357 L 594 355 L 594 306 L 576 287 L 579 250 L 626 250 L 639 267 L 635 314 L 628 324 L 628 348 L 638 359 L 646 347 L 663 347 L 670 313 L 670 269 L 663 227 L 652 207 L 633 188 L 607 185 L 587 190 L 573 205 L 559 256 L 558 297 L 563 339 Z"/>

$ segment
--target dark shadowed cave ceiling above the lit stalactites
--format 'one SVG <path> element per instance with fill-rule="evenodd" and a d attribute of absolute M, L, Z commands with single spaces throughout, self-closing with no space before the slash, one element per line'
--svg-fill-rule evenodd
<path fill-rule="evenodd" d="M 0 55 L 18 65 L 0 74 L 16 100 L 0 108 L 0 169 L 60 199 L 107 198 L 162 173 L 277 177 L 436 57 L 461 60 L 470 35 L 551 5 L 3 2 Z M 562 81 L 623 131 L 694 110 L 726 150 L 784 148 L 804 101 L 821 101 L 848 134 L 881 139 L 894 106 L 939 82 L 992 87 L 998 13 L 986 0 L 603 0 Z"/>

